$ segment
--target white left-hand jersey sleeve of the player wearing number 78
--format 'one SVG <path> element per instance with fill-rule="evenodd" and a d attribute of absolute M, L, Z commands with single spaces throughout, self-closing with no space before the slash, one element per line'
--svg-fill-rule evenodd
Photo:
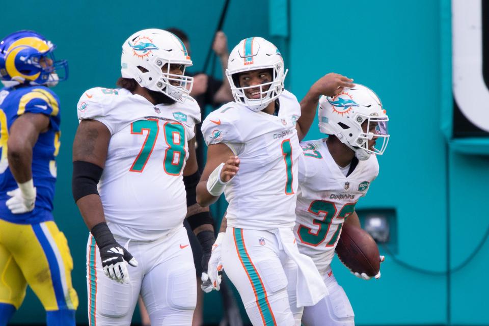
<path fill-rule="evenodd" d="M 113 97 L 118 95 L 114 89 L 104 89 L 100 87 L 91 88 L 80 97 L 76 108 L 78 110 L 78 120 L 97 120 L 103 123 L 111 134 L 118 130 L 118 119 L 114 116 Z"/>

